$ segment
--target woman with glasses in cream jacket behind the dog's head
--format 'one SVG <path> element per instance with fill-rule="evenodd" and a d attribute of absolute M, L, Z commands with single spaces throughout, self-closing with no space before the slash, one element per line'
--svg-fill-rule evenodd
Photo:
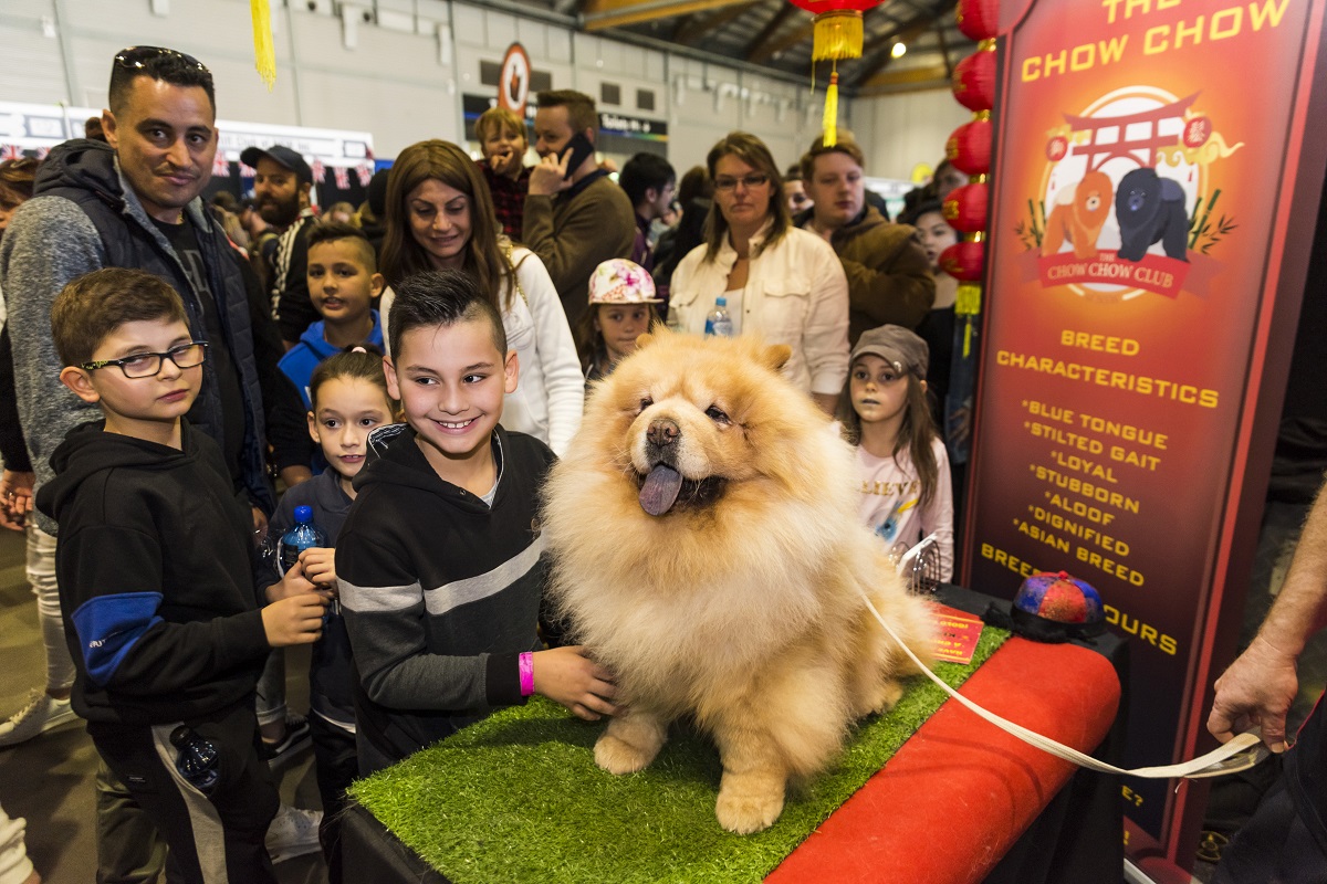
<path fill-rule="evenodd" d="M 734 334 L 792 347 L 784 374 L 832 415 L 848 376 L 848 278 L 839 256 L 792 227 L 779 168 L 759 138 L 730 133 L 706 164 L 714 180 L 706 243 L 673 273 L 670 317 L 702 333 L 725 297 Z"/>

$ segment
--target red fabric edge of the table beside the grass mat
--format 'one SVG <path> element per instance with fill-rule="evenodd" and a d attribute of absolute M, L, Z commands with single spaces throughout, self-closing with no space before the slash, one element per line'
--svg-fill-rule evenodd
<path fill-rule="evenodd" d="M 961 693 L 1091 751 L 1111 729 L 1120 684 L 1095 651 L 1013 636 Z M 981 881 L 1074 770 L 949 700 L 766 880 Z"/>

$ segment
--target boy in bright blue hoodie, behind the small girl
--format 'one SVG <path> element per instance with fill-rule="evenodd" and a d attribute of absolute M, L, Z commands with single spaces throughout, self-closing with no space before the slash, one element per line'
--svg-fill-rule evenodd
<path fill-rule="evenodd" d="M 373 247 L 358 228 L 324 221 L 309 231 L 309 300 L 322 317 L 277 364 L 309 407 L 309 378 L 318 363 L 356 343 L 382 349 L 382 325 L 373 301 L 382 294 Z"/>

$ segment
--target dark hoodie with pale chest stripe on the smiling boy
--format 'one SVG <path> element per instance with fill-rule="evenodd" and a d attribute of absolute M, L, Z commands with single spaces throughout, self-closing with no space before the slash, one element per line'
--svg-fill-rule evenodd
<path fill-rule="evenodd" d="M 358 736 L 387 758 L 520 702 L 518 655 L 540 648 L 539 486 L 553 453 L 502 427 L 492 449 L 491 508 L 443 481 L 407 424 L 376 429 L 354 477 L 336 573 Z"/>

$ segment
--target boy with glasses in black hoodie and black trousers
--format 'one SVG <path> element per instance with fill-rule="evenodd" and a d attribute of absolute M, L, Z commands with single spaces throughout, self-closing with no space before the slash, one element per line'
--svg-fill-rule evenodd
<path fill-rule="evenodd" d="M 169 284 L 85 274 L 56 297 L 50 329 L 60 380 L 104 416 L 69 432 L 37 494 L 60 524 L 73 708 L 165 836 L 171 880 L 275 881 L 264 835 L 277 790 L 253 689 L 268 651 L 318 637 L 325 600 L 292 569 L 289 598 L 257 604 L 248 504 L 216 443 L 182 419 L 207 345 Z M 176 767 L 190 732 L 215 750 L 214 782 Z"/>

